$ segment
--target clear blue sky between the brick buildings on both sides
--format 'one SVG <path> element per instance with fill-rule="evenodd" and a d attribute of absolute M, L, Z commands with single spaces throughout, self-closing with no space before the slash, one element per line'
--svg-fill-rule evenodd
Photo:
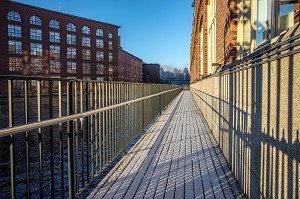
<path fill-rule="evenodd" d="M 16 0 L 121 26 L 124 50 L 146 63 L 183 69 L 190 63 L 192 0 Z"/>

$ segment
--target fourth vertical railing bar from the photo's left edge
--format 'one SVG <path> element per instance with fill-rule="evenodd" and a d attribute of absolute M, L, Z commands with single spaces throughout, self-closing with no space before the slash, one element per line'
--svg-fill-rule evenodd
<path fill-rule="evenodd" d="M 49 119 L 53 118 L 53 81 L 49 81 Z M 50 126 L 50 167 L 51 167 L 51 198 L 55 197 L 54 186 L 54 151 L 53 151 L 53 126 Z"/>

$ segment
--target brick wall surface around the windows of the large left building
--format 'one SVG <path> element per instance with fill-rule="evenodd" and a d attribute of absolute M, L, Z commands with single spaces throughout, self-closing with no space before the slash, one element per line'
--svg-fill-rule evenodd
<path fill-rule="evenodd" d="M 103 80 L 117 80 L 117 66 L 118 66 L 118 49 L 119 49 L 119 26 L 102 23 L 94 20 L 89 20 L 81 17 L 76 17 L 60 12 L 54 12 L 46 9 L 41 9 L 33 6 L 28 6 L 21 3 L 11 1 L 0 1 L 0 74 L 2 75 L 35 75 L 35 76 L 55 76 L 55 77 L 76 77 L 85 79 L 103 79 Z M 21 22 L 8 20 L 8 13 L 10 11 L 17 12 L 21 17 Z M 36 26 L 30 24 L 30 18 L 38 16 L 41 19 L 42 25 Z M 59 23 L 59 29 L 49 27 L 51 20 L 56 20 Z M 76 27 L 76 32 L 67 31 L 67 25 L 72 23 Z M 21 37 L 9 37 L 8 25 L 21 26 Z M 90 34 L 83 34 L 82 28 L 87 26 L 90 29 Z M 32 40 L 30 37 L 30 29 L 36 28 L 42 31 L 41 40 Z M 101 29 L 103 36 L 97 36 L 96 31 Z M 50 42 L 50 31 L 58 32 L 60 34 L 60 42 Z M 109 38 L 109 34 L 112 38 Z M 76 35 L 76 44 L 70 45 L 67 43 L 67 34 Z M 82 44 L 82 37 L 90 38 L 90 47 L 85 47 Z M 96 47 L 96 39 L 103 40 L 103 48 Z M 9 52 L 8 41 L 21 41 L 22 53 L 12 54 Z M 36 56 L 31 53 L 31 43 L 42 44 L 42 55 Z M 50 60 L 50 45 L 60 47 L 60 56 L 55 58 L 60 62 L 60 72 L 52 73 L 49 69 Z M 76 58 L 67 57 L 67 48 L 76 48 Z M 83 49 L 90 50 L 90 59 L 83 60 Z M 96 59 L 96 51 L 101 51 L 104 54 L 104 59 Z M 109 58 L 111 56 L 111 59 Z M 9 70 L 9 57 L 22 58 L 22 69 L 19 71 Z M 42 70 L 38 73 L 33 73 L 32 58 L 42 60 Z M 67 72 L 67 62 L 76 62 L 76 73 Z M 90 71 L 83 73 L 83 64 L 91 66 Z M 97 65 L 98 64 L 98 65 Z M 96 70 L 96 66 L 103 65 L 103 71 Z"/>

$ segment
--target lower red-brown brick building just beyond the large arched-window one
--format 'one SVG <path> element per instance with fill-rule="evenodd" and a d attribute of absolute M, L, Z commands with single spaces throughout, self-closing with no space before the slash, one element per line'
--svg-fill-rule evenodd
<path fill-rule="evenodd" d="M 143 60 L 119 49 L 118 81 L 142 82 Z"/>

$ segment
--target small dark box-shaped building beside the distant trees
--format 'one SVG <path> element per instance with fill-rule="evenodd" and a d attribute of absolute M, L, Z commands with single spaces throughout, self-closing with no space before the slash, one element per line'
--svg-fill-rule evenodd
<path fill-rule="evenodd" d="M 160 65 L 159 64 L 143 64 L 143 82 L 144 83 L 160 83 Z"/>

